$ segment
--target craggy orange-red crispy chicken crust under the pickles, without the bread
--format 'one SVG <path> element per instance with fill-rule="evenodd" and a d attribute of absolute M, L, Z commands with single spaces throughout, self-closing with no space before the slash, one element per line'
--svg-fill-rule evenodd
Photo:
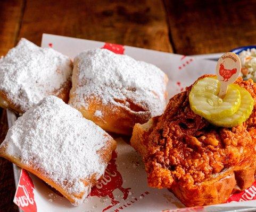
<path fill-rule="evenodd" d="M 208 77 L 213 75 L 204 75 Z M 244 87 L 256 101 L 252 80 L 235 82 Z M 186 91 L 170 99 L 166 110 L 144 139 L 143 154 L 148 184 L 155 188 L 194 189 L 218 174 L 252 166 L 256 159 L 256 105 L 249 119 L 233 128 L 215 127 L 195 114 Z M 254 170 L 253 170 L 254 172 Z M 241 182 L 242 183 L 242 182 Z M 243 185 L 237 185 L 243 188 Z"/>

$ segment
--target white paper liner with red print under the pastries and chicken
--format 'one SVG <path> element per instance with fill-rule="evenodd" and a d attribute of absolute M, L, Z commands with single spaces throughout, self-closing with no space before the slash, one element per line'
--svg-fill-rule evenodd
<path fill-rule="evenodd" d="M 51 46 L 57 51 L 62 52 L 71 58 L 75 57 L 82 50 L 101 48 L 103 42 L 89 41 L 62 36 L 43 34 L 42 47 Z M 169 54 L 166 52 L 153 51 L 135 47 L 125 46 L 125 54 L 134 57 L 137 60 L 144 60 L 161 68 L 169 77 L 168 92 L 169 98 L 179 93 L 185 86 L 192 84 L 197 77 L 203 74 L 214 73 L 216 62 L 210 60 L 195 59 L 182 55 Z M 197 57 L 197 56 L 196 56 Z M 212 57 L 216 58 L 216 55 Z M 9 127 L 15 121 L 15 114 L 7 111 Z M 147 186 L 146 173 L 139 155 L 132 147 L 118 138 L 117 159 L 115 161 L 116 170 L 121 174 L 121 187 L 129 189 L 127 199 L 123 199 L 123 192 L 120 185 L 113 188 L 112 194 L 114 200 L 119 203 L 106 211 L 196 211 L 196 209 L 184 207 L 180 201 L 172 195 L 167 189 L 153 189 Z M 20 169 L 14 165 L 15 182 L 19 179 Z M 112 175 L 115 175 L 112 173 Z M 42 180 L 30 174 L 35 185 L 35 200 L 37 211 L 102 211 L 111 206 L 111 198 L 89 197 L 85 204 L 73 207 L 70 202 L 56 195 Z M 112 176 L 114 179 L 114 176 Z M 110 180 L 112 180 L 112 178 Z M 119 178 L 120 180 L 120 178 Z M 111 181 L 110 181 L 111 182 Z M 110 183 L 109 182 L 109 183 Z M 256 200 L 246 202 L 232 202 L 230 204 L 221 204 L 216 206 L 204 207 L 200 211 L 255 211 Z"/>

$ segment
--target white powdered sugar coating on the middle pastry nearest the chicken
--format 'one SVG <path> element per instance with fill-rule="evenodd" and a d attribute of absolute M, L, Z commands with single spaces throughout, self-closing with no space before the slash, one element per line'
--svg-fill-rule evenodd
<path fill-rule="evenodd" d="M 70 99 L 73 107 L 88 107 L 86 98 L 95 97 L 103 104 L 114 104 L 133 113 L 149 113 L 149 117 L 162 114 L 166 101 L 166 75 L 158 67 L 137 61 L 127 55 L 114 54 L 107 49 L 81 52 L 74 60 L 78 69 L 75 98 Z M 72 80 L 74 82 L 74 80 Z M 129 102 L 144 110 L 132 111 Z"/>

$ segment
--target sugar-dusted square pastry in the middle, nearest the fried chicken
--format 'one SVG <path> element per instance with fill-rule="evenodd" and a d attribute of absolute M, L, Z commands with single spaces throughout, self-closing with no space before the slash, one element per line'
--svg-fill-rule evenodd
<path fill-rule="evenodd" d="M 107 49 L 74 60 L 69 104 L 107 131 L 130 135 L 135 123 L 160 115 L 167 75 L 158 67 Z"/>

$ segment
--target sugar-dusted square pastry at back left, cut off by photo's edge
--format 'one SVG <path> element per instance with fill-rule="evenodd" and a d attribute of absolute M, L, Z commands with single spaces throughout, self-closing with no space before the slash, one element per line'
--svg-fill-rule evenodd
<path fill-rule="evenodd" d="M 48 95 L 69 100 L 72 61 L 22 38 L 0 59 L 0 107 L 20 114 Z"/>

